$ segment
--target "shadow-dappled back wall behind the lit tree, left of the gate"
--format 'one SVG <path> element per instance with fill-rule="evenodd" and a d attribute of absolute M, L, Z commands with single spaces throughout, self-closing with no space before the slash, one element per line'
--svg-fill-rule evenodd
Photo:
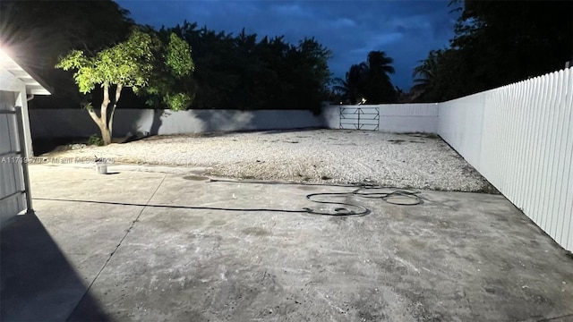
<path fill-rule="evenodd" d="M 80 109 L 38 109 L 30 111 L 34 138 L 89 137 L 99 134 L 90 115 Z M 236 111 L 121 109 L 115 111 L 114 136 L 128 132 L 150 134 L 197 133 L 206 131 L 276 130 L 321 127 L 321 115 L 309 111 Z"/>

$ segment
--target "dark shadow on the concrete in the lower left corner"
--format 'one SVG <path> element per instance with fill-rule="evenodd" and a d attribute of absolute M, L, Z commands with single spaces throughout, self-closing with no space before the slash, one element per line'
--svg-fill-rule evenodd
<path fill-rule="evenodd" d="M 16 216 L 0 240 L 0 320 L 65 321 L 80 302 L 80 320 L 110 320 L 38 216 Z"/>

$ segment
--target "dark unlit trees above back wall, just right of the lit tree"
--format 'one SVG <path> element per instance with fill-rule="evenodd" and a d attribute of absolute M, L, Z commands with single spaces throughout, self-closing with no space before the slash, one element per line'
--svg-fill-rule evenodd
<path fill-rule="evenodd" d="M 319 112 L 328 98 L 330 52 L 313 38 L 292 45 L 284 37 L 258 40 L 245 30 L 234 36 L 186 21 L 159 32 L 174 32 L 193 48 L 193 108 Z"/>

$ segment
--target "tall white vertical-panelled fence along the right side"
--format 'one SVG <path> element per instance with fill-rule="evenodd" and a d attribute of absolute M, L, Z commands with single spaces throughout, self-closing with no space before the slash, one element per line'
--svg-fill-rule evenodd
<path fill-rule="evenodd" d="M 440 103 L 439 134 L 573 250 L 573 69 Z"/>

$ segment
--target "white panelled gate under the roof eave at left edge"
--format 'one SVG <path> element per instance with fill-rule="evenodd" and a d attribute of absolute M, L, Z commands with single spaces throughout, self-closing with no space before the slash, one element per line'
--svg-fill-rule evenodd
<path fill-rule="evenodd" d="M 15 93 L 0 91 L 0 227 L 32 211 L 21 108 L 14 105 Z"/>

